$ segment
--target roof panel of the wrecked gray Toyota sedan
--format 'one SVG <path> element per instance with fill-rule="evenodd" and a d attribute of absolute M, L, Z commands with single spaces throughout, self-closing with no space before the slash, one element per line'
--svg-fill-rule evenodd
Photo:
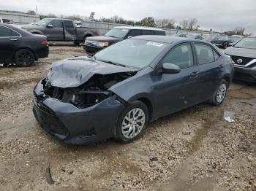
<path fill-rule="evenodd" d="M 141 40 L 148 40 L 148 41 L 155 41 L 155 42 L 165 42 L 165 43 L 173 43 L 173 42 L 205 42 L 202 40 L 197 40 L 197 39 L 188 39 L 188 38 L 183 38 L 179 36 L 159 36 L 159 35 L 143 35 L 143 36 L 135 36 L 132 39 L 141 39 Z"/>

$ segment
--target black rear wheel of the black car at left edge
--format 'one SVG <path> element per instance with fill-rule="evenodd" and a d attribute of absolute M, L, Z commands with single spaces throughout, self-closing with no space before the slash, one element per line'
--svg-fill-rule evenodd
<path fill-rule="evenodd" d="M 28 49 L 20 49 L 15 52 L 15 64 L 20 67 L 31 66 L 34 63 L 34 53 Z"/>

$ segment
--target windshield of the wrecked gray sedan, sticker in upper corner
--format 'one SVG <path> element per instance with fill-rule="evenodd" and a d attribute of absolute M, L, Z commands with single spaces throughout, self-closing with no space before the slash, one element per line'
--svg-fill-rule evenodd
<path fill-rule="evenodd" d="M 148 66 L 167 44 L 140 39 L 127 39 L 98 52 L 95 59 L 142 69 Z"/>

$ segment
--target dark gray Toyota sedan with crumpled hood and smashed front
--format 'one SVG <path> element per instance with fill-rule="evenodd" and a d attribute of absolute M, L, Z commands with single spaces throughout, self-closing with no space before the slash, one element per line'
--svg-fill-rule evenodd
<path fill-rule="evenodd" d="M 53 63 L 34 87 L 34 116 L 66 144 L 133 141 L 147 122 L 208 101 L 222 104 L 233 61 L 197 39 L 137 36 L 93 57 Z"/>

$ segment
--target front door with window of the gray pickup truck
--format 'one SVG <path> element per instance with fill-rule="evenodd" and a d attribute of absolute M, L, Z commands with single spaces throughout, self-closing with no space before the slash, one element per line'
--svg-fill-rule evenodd
<path fill-rule="evenodd" d="M 52 28 L 45 28 L 45 34 L 49 41 L 64 41 L 64 30 L 62 20 L 52 20 L 48 25 Z"/>

